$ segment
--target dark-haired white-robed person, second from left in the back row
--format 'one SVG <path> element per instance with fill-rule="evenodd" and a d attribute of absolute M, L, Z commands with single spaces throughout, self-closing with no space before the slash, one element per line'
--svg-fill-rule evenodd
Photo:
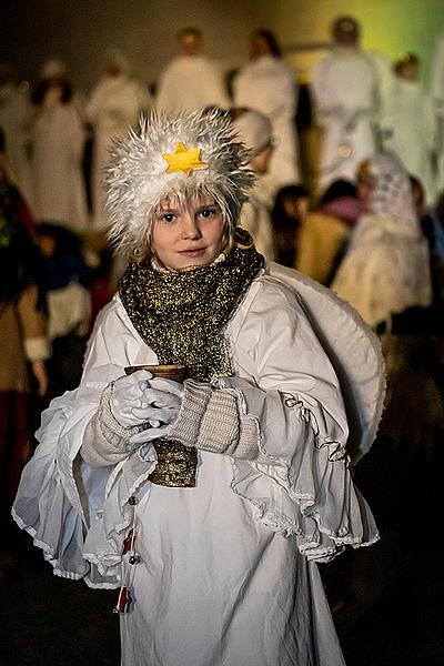
<path fill-rule="evenodd" d="M 38 221 L 89 225 L 82 171 L 84 129 L 60 61 L 48 61 L 32 94 L 31 209 Z"/>

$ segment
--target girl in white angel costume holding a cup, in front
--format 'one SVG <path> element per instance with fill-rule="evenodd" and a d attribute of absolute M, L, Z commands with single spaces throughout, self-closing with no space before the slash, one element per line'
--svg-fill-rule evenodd
<path fill-rule="evenodd" d="M 236 226 L 246 161 L 218 111 L 153 114 L 115 143 L 111 238 L 132 262 L 79 389 L 42 416 L 13 507 L 57 574 L 120 586 L 124 666 L 343 666 L 315 561 L 377 538 L 350 474 L 340 383 L 299 294 L 353 329 L 346 354 L 367 386 L 377 345 Z M 145 363 L 190 379 L 125 376 Z M 357 401 L 362 451 L 374 387 Z"/>

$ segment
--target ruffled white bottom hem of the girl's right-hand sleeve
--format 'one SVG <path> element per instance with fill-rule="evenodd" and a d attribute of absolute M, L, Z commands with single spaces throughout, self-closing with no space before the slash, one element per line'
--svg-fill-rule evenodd
<path fill-rule="evenodd" d="M 307 559 L 329 562 L 346 545 L 375 543 L 373 515 L 354 487 L 347 458 L 337 460 L 337 443 L 315 445 L 312 435 L 297 450 L 289 464 L 260 442 L 258 461 L 233 461 L 231 490 L 254 506 L 256 521 L 295 536 Z"/>

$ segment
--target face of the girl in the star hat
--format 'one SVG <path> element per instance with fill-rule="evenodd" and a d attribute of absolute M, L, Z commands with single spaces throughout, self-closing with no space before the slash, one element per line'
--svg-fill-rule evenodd
<path fill-rule="evenodd" d="M 154 213 L 151 250 L 170 271 L 212 263 L 225 244 L 225 224 L 211 196 L 184 206 L 175 198 L 162 201 Z"/>

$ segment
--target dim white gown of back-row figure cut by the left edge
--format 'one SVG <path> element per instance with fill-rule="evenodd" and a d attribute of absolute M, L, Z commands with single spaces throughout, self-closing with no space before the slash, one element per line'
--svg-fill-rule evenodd
<path fill-rule="evenodd" d="M 30 173 L 28 159 L 30 101 L 26 91 L 9 80 L 8 71 L 2 77 L 0 64 L 0 128 L 4 133 L 4 153 L 12 176 L 26 199 L 29 198 Z"/>

